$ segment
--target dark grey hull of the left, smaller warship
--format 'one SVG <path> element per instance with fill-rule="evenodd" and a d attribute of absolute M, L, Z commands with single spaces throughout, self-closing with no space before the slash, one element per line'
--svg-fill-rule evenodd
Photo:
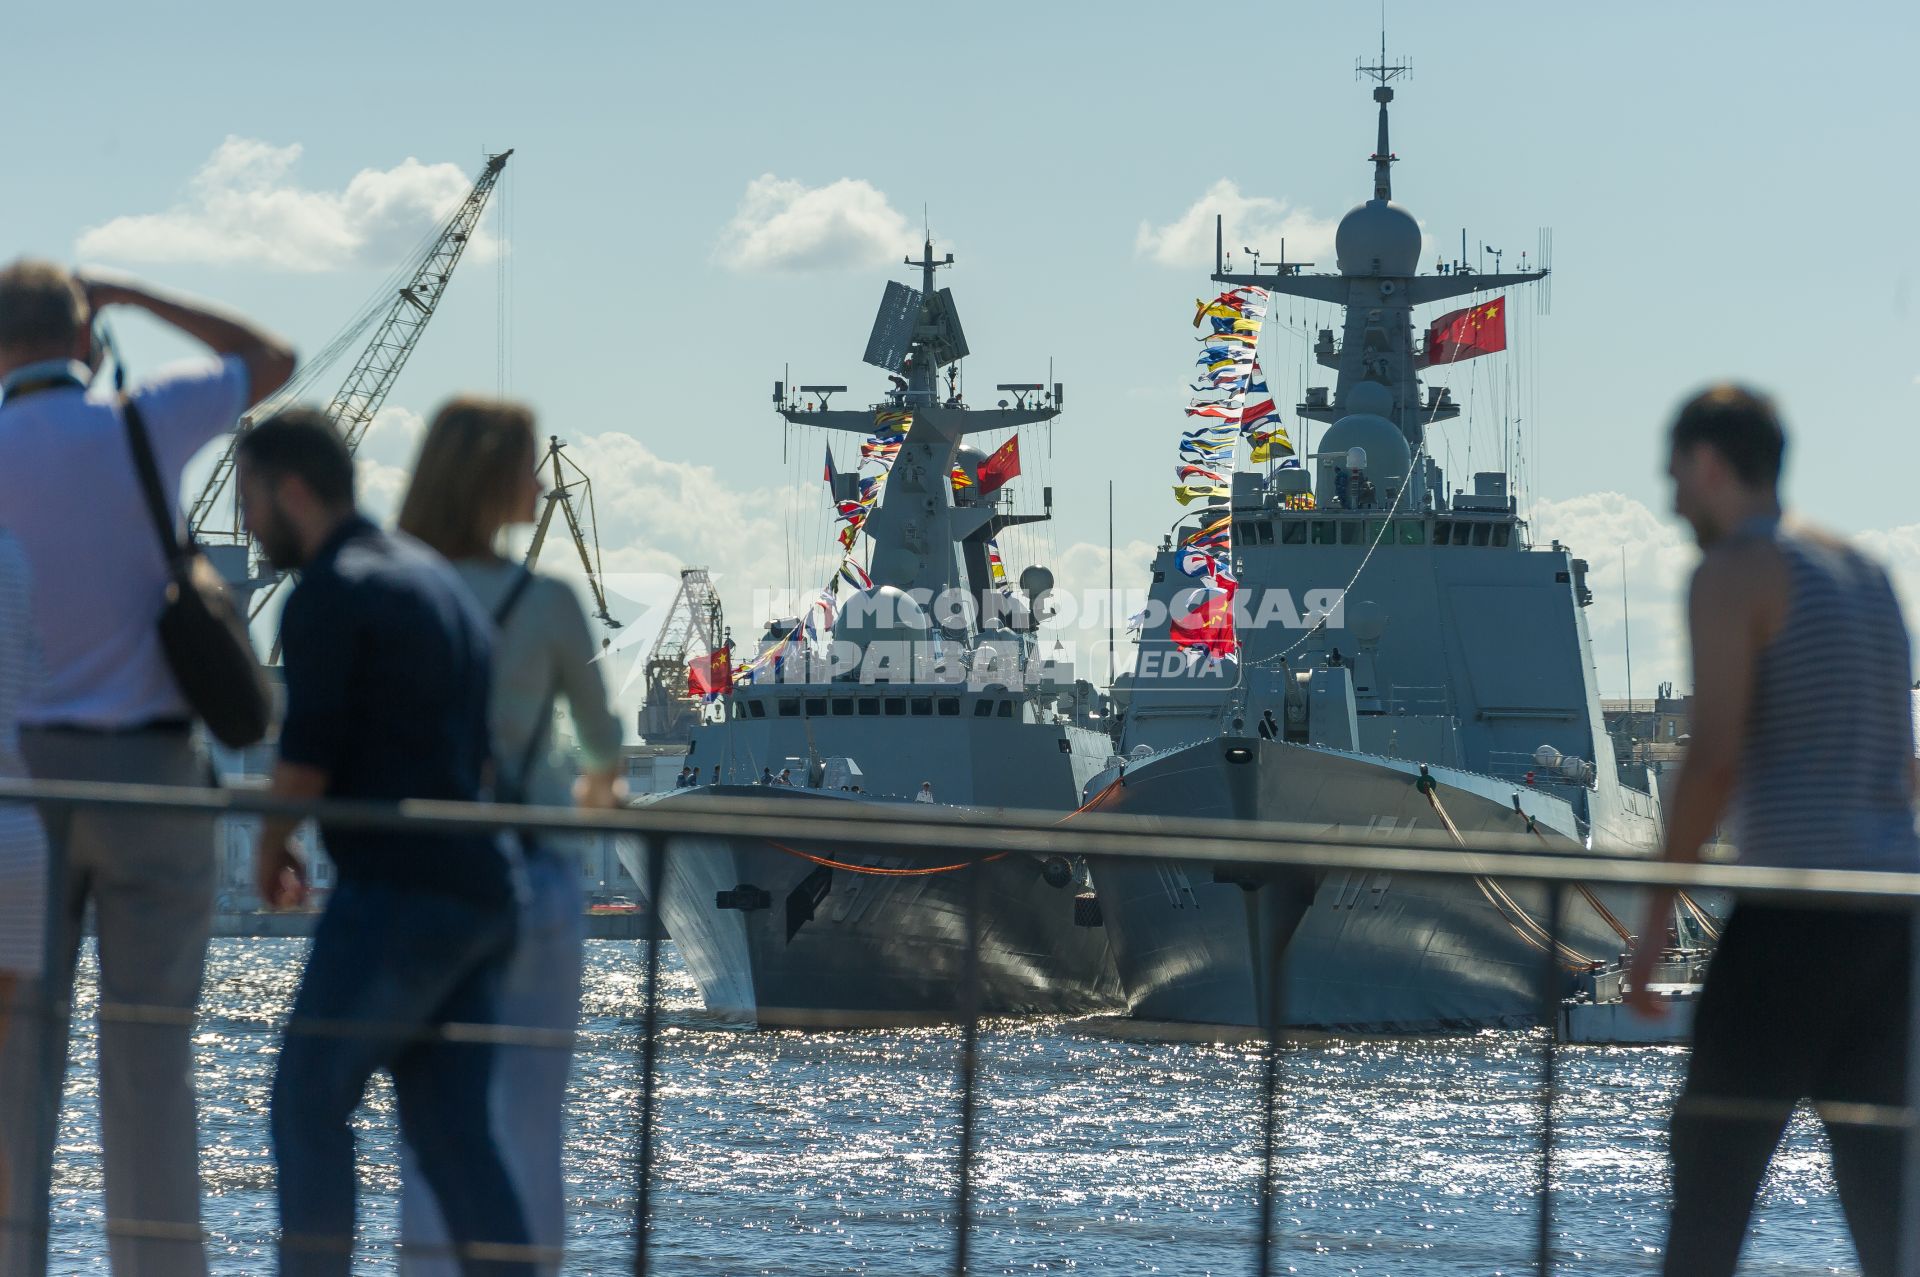
<path fill-rule="evenodd" d="M 720 785 L 697 793 L 889 805 L 808 789 Z M 643 885 L 647 855 L 622 851 Z M 858 870 L 818 864 L 808 855 Z M 1125 1006 L 1106 933 L 1073 926 L 1073 891 L 1046 885 L 1033 856 L 1008 855 L 948 872 L 860 872 L 929 870 L 952 860 L 952 853 L 910 847 L 874 855 L 801 841 L 687 837 L 668 849 L 660 899 L 649 903 L 707 1010 L 726 1020 L 872 1027 L 964 1016 L 966 910 L 973 891 L 981 908 L 981 1014 L 1075 1016 Z M 716 904 L 722 893 L 758 903 L 739 891 L 743 885 L 762 891 L 764 906 Z"/>

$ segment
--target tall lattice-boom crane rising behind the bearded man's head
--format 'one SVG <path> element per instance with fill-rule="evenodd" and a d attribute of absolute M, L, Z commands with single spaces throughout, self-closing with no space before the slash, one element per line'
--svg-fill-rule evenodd
<path fill-rule="evenodd" d="M 194 540 L 209 547 L 215 563 L 221 565 L 223 572 L 236 588 L 253 590 L 253 599 L 248 607 L 250 618 L 259 614 L 284 578 L 282 574 L 265 568 L 265 565 L 248 561 L 248 538 L 240 528 L 238 509 L 234 509 L 238 505 L 238 488 L 234 490 L 234 507 L 228 507 L 232 509 L 230 526 L 215 526 L 215 509 L 221 505 L 221 494 L 232 484 L 236 459 L 234 446 L 253 421 L 275 413 L 278 407 L 303 394 L 313 376 L 324 371 L 340 353 L 346 351 L 348 346 L 367 332 L 367 328 L 372 328 L 372 338 L 367 342 L 367 348 L 361 351 L 353 369 L 340 384 L 340 390 L 334 392 L 332 401 L 326 405 L 326 415 L 338 422 L 340 434 L 346 438 L 348 451 L 355 451 L 359 447 L 361 440 L 367 438 L 367 428 L 372 426 L 374 415 L 380 411 L 388 392 L 394 388 L 394 380 L 399 376 L 399 371 L 407 367 L 407 357 L 413 353 L 413 348 L 419 346 L 420 334 L 426 330 L 426 323 L 434 317 L 434 309 L 445 296 L 447 282 L 453 278 L 453 269 L 459 265 L 461 253 L 467 252 L 474 227 L 480 223 L 480 213 L 486 211 L 488 196 L 493 194 L 493 186 L 499 182 L 499 175 L 507 167 L 507 159 L 511 156 L 511 150 L 488 156 L 486 167 L 474 181 L 472 190 L 467 192 L 467 198 L 424 248 L 424 252 L 413 259 L 413 269 L 407 273 L 405 284 L 401 284 L 396 292 L 382 288 L 374 301 L 363 309 L 361 315 L 355 317 L 355 321 L 349 323 L 348 328 L 321 351 L 321 355 L 315 357 L 311 373 L 298 376 L 275 398 L 257 403 L 252 413 L 240 419 L 240 426 L 234 430 L 232 442 L 228 442 L 227 451 L 215 463 L 213 472 L 200 490 L 200 495 L 188 507 L 186 524 L 192 528 Z M 378 321 L 376 326 L 374 321 Z M 234 580 L 236 572 L 240 580 Z M 597 586 L 595 597 L 599 597 Z M 605 616 L 605 603 L 601 603 L 601 614 Z"/>

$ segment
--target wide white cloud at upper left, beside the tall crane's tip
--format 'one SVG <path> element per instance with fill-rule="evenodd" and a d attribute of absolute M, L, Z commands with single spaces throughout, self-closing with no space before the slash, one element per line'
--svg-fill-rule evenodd
<path fill-rule="evenodd" d="M 90 261 L 252 265 L 338 271 L 392 265 L 444 221 L 472 188 L 455 163 L 407 157 L 361 169 L 344 190 L 307 190 L 294 179 L 301 148 L 228 136 L 163 213 L 131 213 L 81 232 Z M 478 230 L 467 252 L 492 257 Z"/>

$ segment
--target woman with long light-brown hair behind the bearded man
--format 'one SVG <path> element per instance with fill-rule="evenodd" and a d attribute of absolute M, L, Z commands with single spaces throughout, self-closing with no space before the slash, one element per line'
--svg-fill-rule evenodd
<path fill-rule="evenodd" d="M 553 759 L 549 732 L 559 697 L 574 720 L 582 807 L 620 799 L 620 720 L 593 663 L 597 649 L 574 591 L 499 555 L 509 524 L 534 522 L 534 413 L 518 403 L 457 398 L 434 415 L 399 528 L 438 549 L 497 626 L 493 638 L 492 735 L 495 791 L 503 801 L 561 805 L 568 774 Z M 499 1022 L 570 1035 L 580 1020 L 580 960 L 586 901 L 580 866 L 547 835 L 522 837 L 530 899 L 520 941 L 501 991 Z M 526 1210 L 540 1269 L 559 1271 L 564 1237 L 561 1177 L 566 1073 L 572 1054 L 555 1045 L 509 1045 L 493 1068 L 493 1135 Z M 403 1154 L 401 1267 L 409 1277 L 459 1271 L 426 1179 Z"/>

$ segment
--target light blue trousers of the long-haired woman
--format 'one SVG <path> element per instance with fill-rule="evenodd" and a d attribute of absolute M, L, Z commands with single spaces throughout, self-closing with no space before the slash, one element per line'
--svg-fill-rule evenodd
<path fill-rule="evenodd" d="M 520 939 L 501 985 L 499 1020 L 507 1025 L 574 1033 L 580 1027 L 580 960 L 586 901 L 572 855 L 526 858 L 528 899 Z M 493 1137 L 520 1191 L 526 1227 L 547 1254 L 540 1275 L 555 1277 L 566 1241 L 566 1183 L 561 1177 L 566 1075 L 572 1050 L 557 1045 L 501 1047 L 493 1064 Z M 447 1227 L 411 1146 L 399 1150 L 401 1277 L 453 1277 Z"/>

